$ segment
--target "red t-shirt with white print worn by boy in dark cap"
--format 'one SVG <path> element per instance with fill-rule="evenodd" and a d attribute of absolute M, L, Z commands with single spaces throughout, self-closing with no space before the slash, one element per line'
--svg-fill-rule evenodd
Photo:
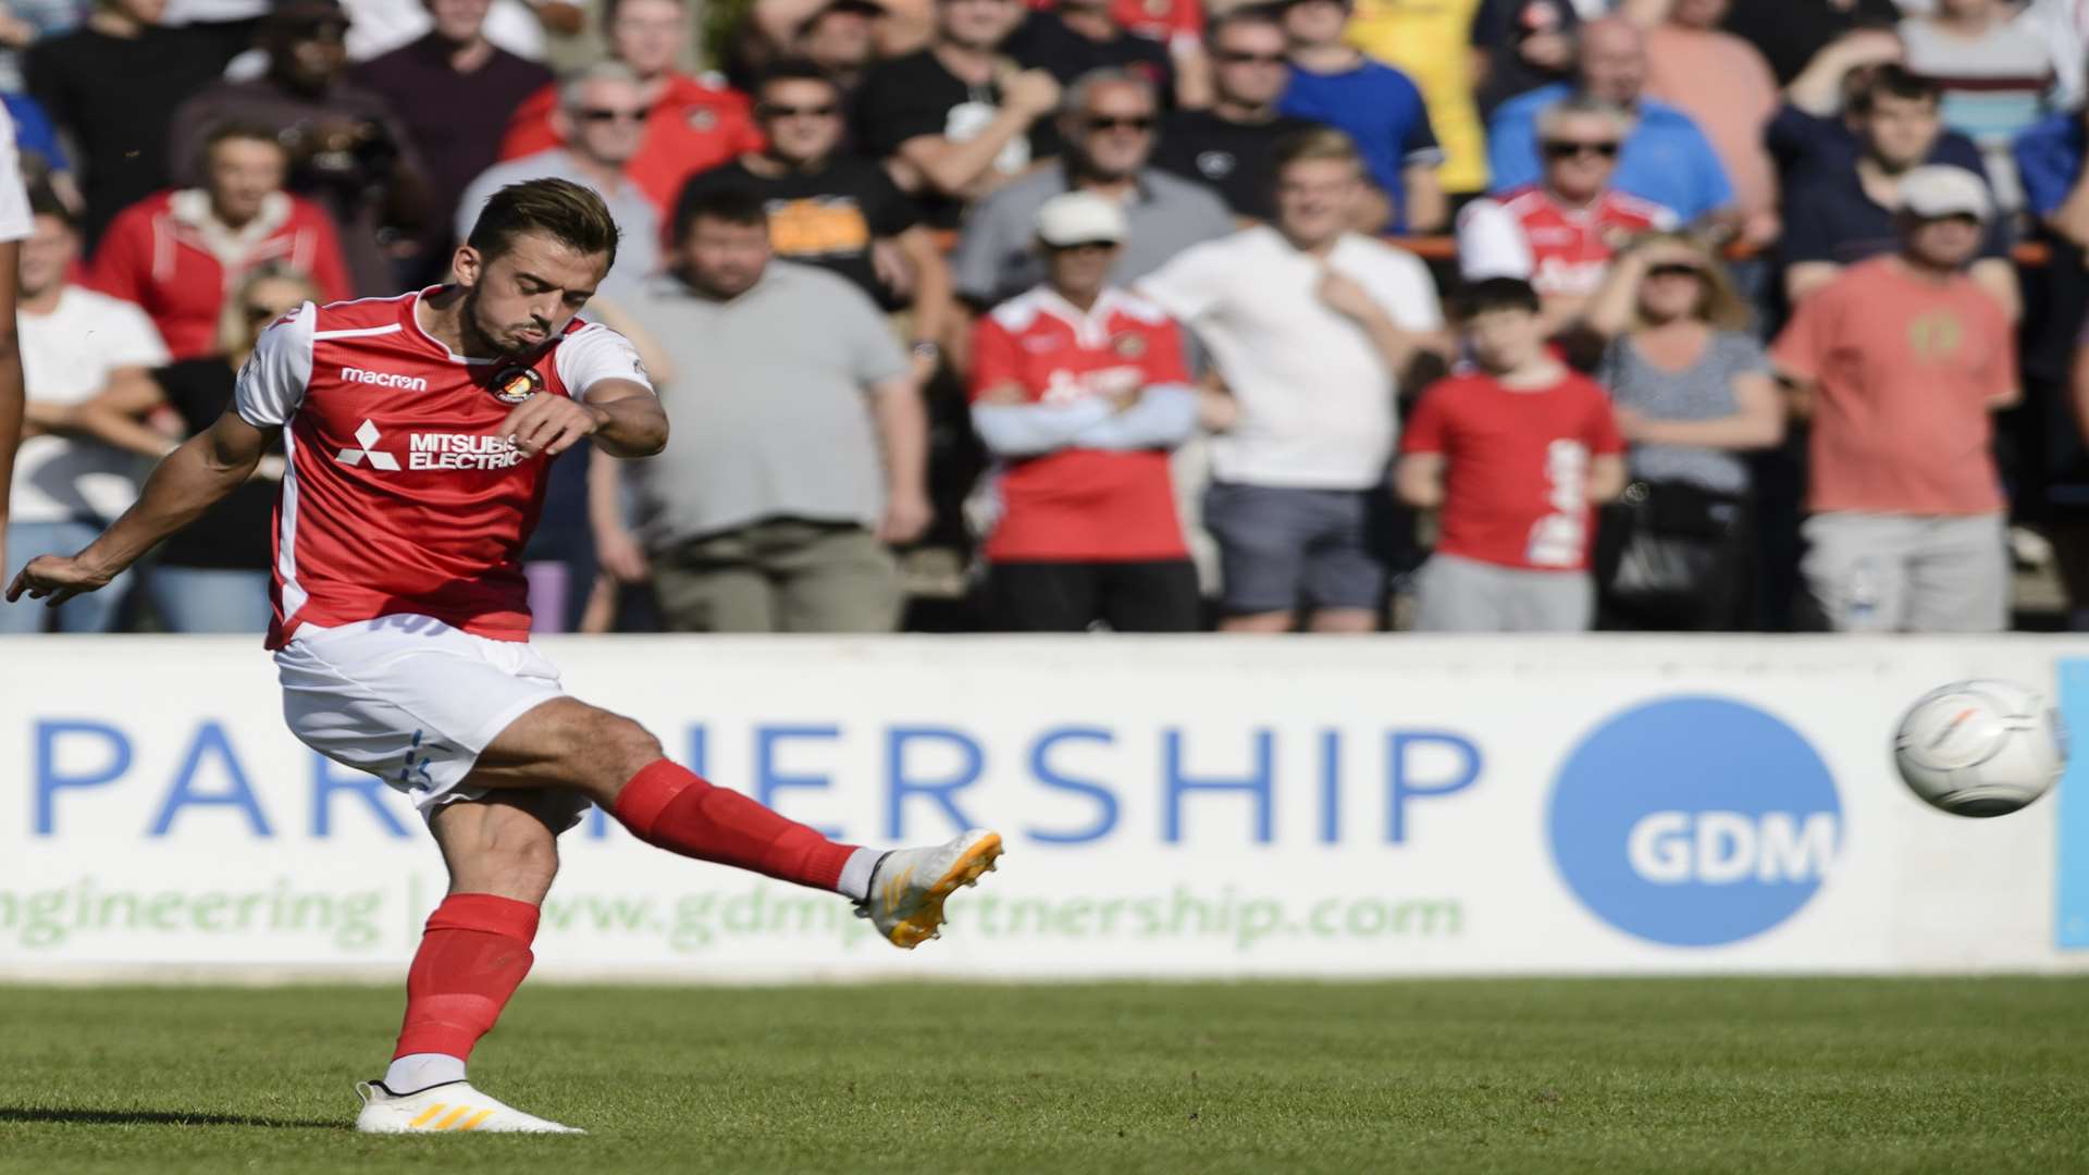
<path fill-rule="evenodd" d="M 1625 439 L 1611 397 L 1588 376 L 1569 372 L 1544 391 L 1512 391 L 1469 374 L 1423 393 L 1400 452 L 1443 456 L 1439 552 L 1586 571 L 1594 529 L 1588 466 L 1625 452 Z"/>

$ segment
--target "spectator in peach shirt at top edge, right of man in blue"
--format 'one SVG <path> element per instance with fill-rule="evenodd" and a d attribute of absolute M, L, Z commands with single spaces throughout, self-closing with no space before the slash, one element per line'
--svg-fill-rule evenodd
<path fill-rule="evenodd" d="M 1646 33 L 1646 96 L 1690 115 L 1734 184 L 1742 238 L 1778 236 L 1778 174 L 1763 128 L 1778 113 L 1778 79 L 1748 42 L 1719 31 L 1734 0 L 1673 0 Z"/>

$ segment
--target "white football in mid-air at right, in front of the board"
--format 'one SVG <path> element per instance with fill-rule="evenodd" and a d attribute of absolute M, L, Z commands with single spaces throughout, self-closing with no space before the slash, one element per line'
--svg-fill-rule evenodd
<path fill-rule="evenodd" d="M 2066 767 L 2051 700 L 2014 682 L 1953 682 L 1907 707 L 1893 736 L 1901 780 L 1951 815 L 2008 815 Z"/>

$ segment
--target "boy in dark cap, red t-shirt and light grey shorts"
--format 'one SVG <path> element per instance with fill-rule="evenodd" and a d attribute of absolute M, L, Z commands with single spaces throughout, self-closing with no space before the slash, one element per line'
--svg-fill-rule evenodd
<path fill-rule="evenodd" d="M 1393 473 L 1404 502 L 1441 510 L 1414 627 L 1583 631 L 1594 504 L 1625 487 L 1611 397 L 1546 349 L 1529 282 L 1473 282 L 1456 309 L 1477 370 L 1423 391 Z"/>

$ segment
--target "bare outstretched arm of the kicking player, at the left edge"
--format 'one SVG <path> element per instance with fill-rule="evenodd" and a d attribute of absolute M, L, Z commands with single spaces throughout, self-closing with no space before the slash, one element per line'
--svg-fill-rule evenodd
<path fill-rule="evenodd" d="M 194 523 L 224 496 L 240 487 L 267 450 L 267 433 L 226 412 L 159 462 L 144 483 L 138 504 L 123 512 L 98 539 L 67 558 L 46 554 L 29 560 L 8 583 L 8 602 L 27 594 L 58 606 L 81 592 L 115 579 L 155 544 Z"/>

